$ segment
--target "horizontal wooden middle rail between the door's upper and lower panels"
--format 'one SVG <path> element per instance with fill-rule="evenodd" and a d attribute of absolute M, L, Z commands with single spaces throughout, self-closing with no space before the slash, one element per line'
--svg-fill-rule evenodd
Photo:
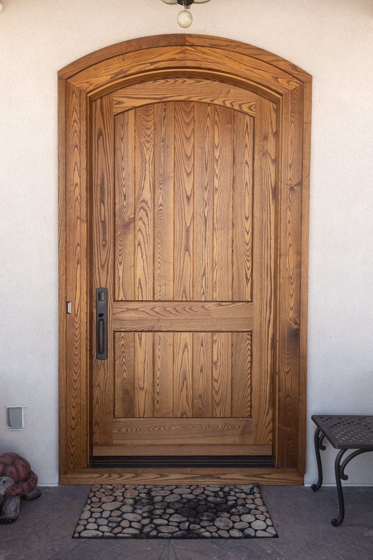
<path fill-rule="evenodd" d="M 253 328 L 253 304 L 249 302 L 114 302 L 114 330 L 224 330 Z"/>

